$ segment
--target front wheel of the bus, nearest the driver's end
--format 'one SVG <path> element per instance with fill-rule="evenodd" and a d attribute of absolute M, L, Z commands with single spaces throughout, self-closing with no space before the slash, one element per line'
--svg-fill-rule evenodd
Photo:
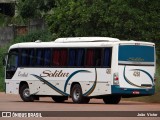
<path fill-rule="evenodd" d="M 24 102 L 33 102 L 34 97 L 30 95 L 30 90 L 27 84 L 20 87 L 20 97 Z"/>

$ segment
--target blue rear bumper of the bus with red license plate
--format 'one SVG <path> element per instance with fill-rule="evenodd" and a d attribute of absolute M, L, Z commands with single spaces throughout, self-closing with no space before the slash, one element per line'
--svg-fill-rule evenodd
<path fill-rule="evenodd" d="M 155 93 L 155 86 L 152 88 L 122 88 L 118 85 L 111 86 L 111 94 L 119 94 L 122 96 L 136 97 L 136 96 L 149 96 Z"/>

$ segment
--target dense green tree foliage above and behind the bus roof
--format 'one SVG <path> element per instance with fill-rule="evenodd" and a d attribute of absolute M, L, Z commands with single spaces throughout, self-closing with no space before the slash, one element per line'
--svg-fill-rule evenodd
<path fill-rule="evenodd" d="M 157 0 L 59 0 L 46 17 L 55 37 L 110 36 L 156 41 L 160 38 Z"/>

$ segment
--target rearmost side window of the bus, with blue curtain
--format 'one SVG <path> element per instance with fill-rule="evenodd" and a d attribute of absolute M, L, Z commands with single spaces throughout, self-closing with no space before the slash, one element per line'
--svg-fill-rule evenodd
<path fill-rule="evenodd" d="M 104 49 L 104 59 L 103 59 L 104 67 L 111 67 L 111 57 L 112 57 L 111 53 L 112 53 L 111 48 Z"/>

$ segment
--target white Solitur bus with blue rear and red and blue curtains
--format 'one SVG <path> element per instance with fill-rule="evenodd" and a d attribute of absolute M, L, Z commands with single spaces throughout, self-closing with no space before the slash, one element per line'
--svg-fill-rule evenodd
<path fill-rule="evenodd" d="M 155 44 L 110 37 L 17 43 L 6 55 L 5 87 L 25 102 L 51 97 L 89 103 L 155 93 Z"/>

